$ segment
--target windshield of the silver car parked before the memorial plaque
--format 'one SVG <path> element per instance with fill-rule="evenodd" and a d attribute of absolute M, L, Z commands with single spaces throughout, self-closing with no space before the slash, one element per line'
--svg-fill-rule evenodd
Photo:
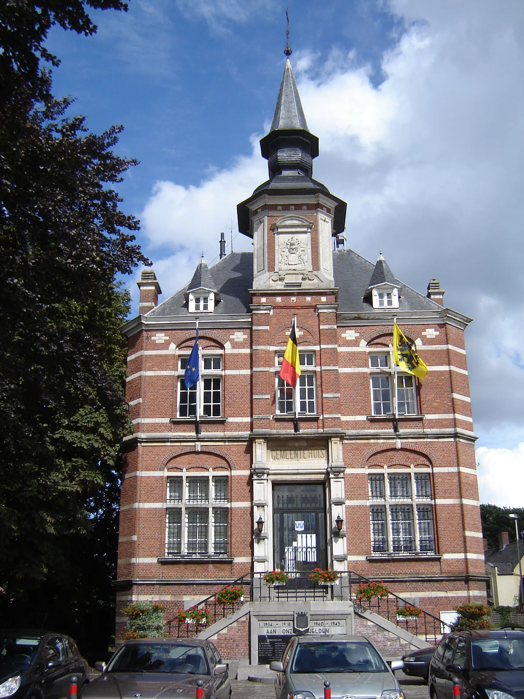
<path fill-rule="evenodd" d="M 299 643 L 291 672 L 387 672 L 370 643 L 333 641 Z"/>

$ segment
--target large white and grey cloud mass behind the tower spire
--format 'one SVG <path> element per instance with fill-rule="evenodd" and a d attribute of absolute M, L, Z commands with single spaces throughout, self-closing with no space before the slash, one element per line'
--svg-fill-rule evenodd
<path fill-rule="evenodd" d="M 395 275 L 420 291 L 439 278 L 446 303 L 474 317 L 466 342 L 476 431 L 513 447 L 524 437 L 524 3 L 391 7 L 407 31 L 384 55 L 378 89 L 354 55 L 333 52 L 316 66 L 314 47 L 303 52 L 298 87 L 320 138 L 314 177 L 348 202 L 351 247 L 370 259 L 382 247 Z M 254 143 L 252 157 L 199 187 L 159 183 L 141 215 L 145 233 L 166 257 L 184 250 L 196 264 L 265 178 Z"/>

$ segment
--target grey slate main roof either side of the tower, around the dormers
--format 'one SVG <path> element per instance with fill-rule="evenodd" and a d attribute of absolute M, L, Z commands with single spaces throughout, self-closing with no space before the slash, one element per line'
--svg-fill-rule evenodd
<path fill-rule="evenodd" d="M 365 291 L 370 283 L 375 265 L 358 255 L 353 250 L 336 250 L 333 252 L 333 269 L 335 287 L 339 288 L 339 312 L 369 312 L 373 310 L 372 303 L 367 298 L 363 300 Z M 215 288 L 220 294 L 221 301 L 215 306 L 212 315 L 229 315 L 249 313 L 249 289 L 253 287 L 253 253 L 231 252 L 223 259 L 212 265 L 210 275 Z M 401 289 L 399 310 L 442 310 L 442 306 L 423 294 L 419 294 L 407 284 L 393 277 L 394 283 Z M 151 310 L 147 317 L 170 315 L 189 315 L 184 293 L 190 284 L 182 287 L 176 294 L 167 298 Z M 192 315 L 192 314 L 191 314 Z"/>

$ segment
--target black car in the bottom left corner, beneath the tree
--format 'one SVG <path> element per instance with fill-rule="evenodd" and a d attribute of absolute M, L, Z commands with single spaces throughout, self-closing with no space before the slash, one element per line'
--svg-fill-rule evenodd
<path fill-rule="evenodd" d="M 61 633 L 0 629 L 0 697 L 65 699 L 71 677 L 78 696 L 89 682 L 87 662 Z"/>

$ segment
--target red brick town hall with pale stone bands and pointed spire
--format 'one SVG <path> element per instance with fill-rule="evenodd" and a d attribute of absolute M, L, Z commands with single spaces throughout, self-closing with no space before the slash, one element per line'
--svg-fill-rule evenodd
<path fill-rule="evenodd" d="M 470 319 L 444 307 L 437 280 L 424 296 L 382 255 L 372 264 L 344 249 L 346 204 L 312 179 L 318 149 L 288 60 L 261 140 L 270 178 L 238 206 L 253 252 L 202 260 L 160 304 L 154 273 L 142 275 L 140 315 L 124 326 L 135 433 L 120 607 L 161 600 L 170 618 L 243 573 L 328 566 L 384 579 L 437 617 L 486 598 Z M 295 316 L 297 406 L 278 377 Z M 199 429 L 184 384 L 197 317 Z M 429 369 L 423 382 L 399 371 L 397 391 L 395 317 Z M 248 626 L 249 616 L 229 656 L 247 656 Z"/>

